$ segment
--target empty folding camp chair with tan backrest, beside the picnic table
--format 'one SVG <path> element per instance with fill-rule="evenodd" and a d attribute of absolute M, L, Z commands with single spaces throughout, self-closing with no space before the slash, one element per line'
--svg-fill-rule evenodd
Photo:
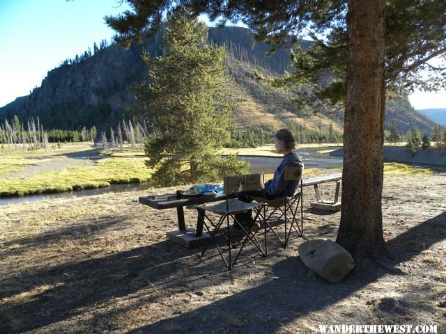
<path fill-rule="evenodd" d="M 265 203 L 263 202 L 249 203 L 233 198 L 235 197 L 236 193 L 239 193 L 240 191 L 260 190 L 260 189 L 264 191 L 263 173 L 224 177 L 224 193 L 226 195 L 226 199 L 223 202 L 217 203 L 216 205 L 200 205 L 196 207 L 196 209 L 198 210 L 199 219 L 202 220 L 203 225 L 205 225 L 208 232 L 210 232 L 210 240 L 208 241 L 208 244 L 206 244 L 206 247 L 203 249 L 199 257 L 203 257 L 204 253 L 206 253 L 206 250 L 208 250 L 210 244 L 212 244 L 213 241 L 215 241 L 215 237 L 217 236 L 217 234 L 221 234 L 227 241 L 228 254 L 229 254 L 228 260 L 226 260 L 226 258 L 224 257 L 223 250 L 217 244 L 217 242 L 215 242 L 215 246 L 217 247 L 217 250 L 220 253 L 220 256 L 222 257 L 228 269 L 232 269 L 233 266 L 236 264 L 236 261 L 238 260 L 238 257 L 241 251 L 243 250 L 243 247 L 248 241 L 252 241 L 252 243 L 256 246 L 256 248 L 258 248 L 261 251 L 263 256 L 266 256 L 266 252 L 260 246 L 259 241 L 257 241 L 256 237 L 252 233 L 253 225 L 245 228 L 243 226 L 243 223 L 239 222 L 236 218 L 236 214 L 240 214 L 241 212 L 253 209 L 255 213 L 254 216 L 254 224 L 255 224 L 256 220 L 259 218 L 261 214 L 262 209 L 263 211 L 265 211 Z M 212 212 L 213 214 L 217 214 L 218 217 L 217 221 L 215 221 L 215 219 L 213 220 L 213 218 L 208 215 L 208 213 L 210 212 Z M 263 212 L 263 216 L 264 214 L 265 212 Z M 210 227 L 206 223 L 206 221 L 208 221 L 208 223 L 210 223 L 210 225 L 213 226 L 214 230 L 212 232 L 210 231 Z M 224 232 L 222 231 L 222 226 L 225 221 L 226 221 L 225 225 L 227 226 L 227 231 L 228 231 L 227 235 L 225 235 Z M 231 229 L 229 225 L 230 223 L 232 223 L 232 221 L 240 225 L 240 228 L 243 231 L 243 237 L 234 238 L 234 235 L 231 236 Z M 233 242 L 235 239 L 238 240 L 236 242 Z M 240 249 L 238 250 L 235 260 L 231 262 L 231 248 L 235 248 L 238 246 L 240 246 Z"/>

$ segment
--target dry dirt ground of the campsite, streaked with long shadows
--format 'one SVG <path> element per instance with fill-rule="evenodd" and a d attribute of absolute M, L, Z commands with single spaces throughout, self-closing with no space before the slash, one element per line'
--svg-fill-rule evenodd
<path fill-rule="evenodd" d="M 334 186 L 321 186 L 328 196 Z M 0 207 L 0 333 L 319 333 L 323 324 L 427 324 L 446 333 L 446 173 L 385 175 L 394 270 L 363 259 L 339 284 L 268 237 L 228 271 L 215 247 L 168 241 L 175 210 L 105 193 Z M 340 212 L 309 207 L 305 234 L 334 240 Z M 189 225 L 196 212 L 185 210 Z M 282 232 L 282 226 L 278 231 Z"/>

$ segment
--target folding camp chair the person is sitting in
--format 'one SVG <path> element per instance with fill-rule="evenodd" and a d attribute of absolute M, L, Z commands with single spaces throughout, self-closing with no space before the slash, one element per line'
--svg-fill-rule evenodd
<path fill-rule="evenodd" d="M 261 216 L 261 220 L 265 223 L 266 233 L 272 232 L 279 240 L 282 246 L 288 244 L 291 236 L 291 230 L 295 230 L 298 237 L 303 237 L 303 205 L 302 205 L 302 173 L 303 167 L 285 166 L 284 180 L 296 181 L 298 186 L 295 189 L 293 196 L 276 198 L 274 200 L 263 200 L 272 211 L 267 212 L 268 216 Z M 256 200 L 259 200 L 256 198 Z M 298 210 L 300 207 L 300 224 L 298 219 Z M 276 218 L 277 214 L 279 215 Z M 279 237 L 279 234 L 273 229 L 275 223 L 284 218 L 285 236 L 284 240 Z"/>

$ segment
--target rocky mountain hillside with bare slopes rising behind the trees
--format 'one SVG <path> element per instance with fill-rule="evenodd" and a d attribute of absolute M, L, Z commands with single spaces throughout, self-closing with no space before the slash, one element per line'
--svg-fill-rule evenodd
<path fill-rule="evenodd" d="M 210 28 L 209 40 L 226 44 L 229 51 L 229 88 L 237 102 L 233 127 L 244 132 L 254 127 L 300 127 L 341 134 L 343 114 L 301 111 L 284 91 L 272 92 L 254 78 L 254 69 L 270 75 L 289 70 L 289 51 L 279 49 L 266 56 L 269 47 L 254 42 L 252 33 L 240 27 Z M 309 42 L 303 42 L 305 47 Z M 143 47 L 152 55 L 162 54 L 162 31 L 143 45 L 124 50 L 117 45 L 100 49 L 82 61 L 61 65 L 48 72 L 40 88 L 30 95 L 19 97 L 0 108 L 0 119 L 21 120 L 40 118 L 46 128 L 80 129 L 95 125 L 107 129 L 128 117 L 124 107 L 132 106 L 133 96 L 128 90 L 134 82 L 147 77 L 140 55 Z M 431 133 L 433 122 L 417 113 L 408 100 L 394 100 L 387 104 L 386 129 L 392 119 L 397 120 L 400 132 L 417 127 Z"/>

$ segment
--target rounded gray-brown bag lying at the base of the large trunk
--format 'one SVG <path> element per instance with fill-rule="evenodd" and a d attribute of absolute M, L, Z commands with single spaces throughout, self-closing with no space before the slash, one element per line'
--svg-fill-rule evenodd
<path fill-rule="evenodd" d="M 305 241 L 298 252 L 305 266 L 330 283 L 339 283 L 355 267 L 350 253 L 327 239 Z"/>

